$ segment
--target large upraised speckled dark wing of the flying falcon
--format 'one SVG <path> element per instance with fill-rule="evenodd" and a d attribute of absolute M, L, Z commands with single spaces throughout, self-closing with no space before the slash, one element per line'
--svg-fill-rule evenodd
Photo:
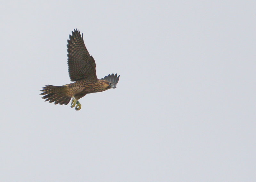
<path fill-rule="evenodd" d="M 68 51 L 68 73 L 71 81 L 97 80 L 96 64 L 84 45 L 83 34 L 74 29 L 69 35 L 67 44 Z"/>

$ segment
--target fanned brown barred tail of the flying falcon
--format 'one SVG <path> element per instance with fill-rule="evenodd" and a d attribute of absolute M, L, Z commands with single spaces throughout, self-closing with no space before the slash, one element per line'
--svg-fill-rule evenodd
<path fill-rule="evenodd" d="M 71 99 L 71 97 L 65 95 L 66 86 L 45 85 L 40 91 L 43 92 L 40 95 L 44 95 L 42 99 L 46 99 L 45 101 L 49 101 L 49 103 L 67 105 Z"/>

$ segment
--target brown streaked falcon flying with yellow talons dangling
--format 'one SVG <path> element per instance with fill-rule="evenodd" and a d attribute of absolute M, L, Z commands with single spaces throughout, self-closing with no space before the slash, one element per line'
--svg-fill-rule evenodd
<path fill-rule="evenodd" d="M 78 99 L 86 94 L 115 89 L 120 75 L 112 73 L 102 79 L 97 78 L 95 60 L 86 49 L 79 30 L 74 29 L 67 41 L 68 73 L 70 80 L 75 82 L 62 86 L 45 85 L 40 95 L 44 95 L 42 99 L 45 101 L 60 105 L 67 105 L 72 98 L 70 108 L 80 110 L 82 105 Z"/>

